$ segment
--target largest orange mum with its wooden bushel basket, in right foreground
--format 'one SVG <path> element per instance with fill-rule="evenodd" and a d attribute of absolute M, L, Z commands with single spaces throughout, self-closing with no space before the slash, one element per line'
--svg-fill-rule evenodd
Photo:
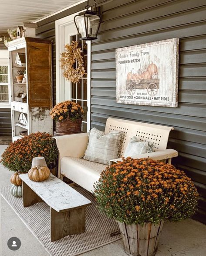
<path fill-rule="evenodd" d="M 99 209 L 118 221 L 125 252 L 134 256 L 154 256 L 164 221 L 189 218 L 198 200 L 183 171 L 130 157 L 101 173 L 94 194 Z"/>

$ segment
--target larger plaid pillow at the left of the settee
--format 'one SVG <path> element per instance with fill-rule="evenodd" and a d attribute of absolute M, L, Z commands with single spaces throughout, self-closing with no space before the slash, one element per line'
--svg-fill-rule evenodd
<path fill-rule="evenodd" d="M 109 165 L 109 160 L 119 157 L 119 147 L 123 136 L 123 131 L 111 131 L 105 134 L 103 131 L 92 128 L 84 159 Z"/>

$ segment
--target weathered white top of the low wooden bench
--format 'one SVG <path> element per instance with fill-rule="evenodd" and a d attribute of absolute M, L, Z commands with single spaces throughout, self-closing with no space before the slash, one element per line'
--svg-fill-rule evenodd
<path fill-rule="evenodd" d="M 53 174 L 50 174 L 47 180 L 41 182 L 30 180 L 27 173 L 19 176 L 27 186 L 34 190 L 55 211 L 62 212 L 91 204 L 91 201 L 86 197 Z"/>

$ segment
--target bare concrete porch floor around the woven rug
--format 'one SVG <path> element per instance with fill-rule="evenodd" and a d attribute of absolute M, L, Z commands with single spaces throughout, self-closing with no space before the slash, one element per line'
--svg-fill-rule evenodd
<path fill-rule="evenodd" d="M 7 145 L 0 145 L 0 155 Z M 10 184 L 9 172 L 3 166 L 0 166 L 0 186 Z M 0 197 L 1 205 L 1 236 L 2 236 L 2 256 L 47 256 L 49 255 L 44 246 L 35 238 L 35 236 L 24 225 L 9 204 Z M 7 241 L 10 237 L 18 237 L 21 241 L 21 247 L 17 251 L 11 251 L 7 247 Z M 84 256 L 126 256 L 122 240 L 113 242 L 107 246 L 102 246 Z M 206 256 L 206 225 L 188 219 L 178 223 L 164 224 L 162 236 L 159 241 L 159 249 L 156 256 Z M 62 256 L 66 256 L 62 252 Z"/>

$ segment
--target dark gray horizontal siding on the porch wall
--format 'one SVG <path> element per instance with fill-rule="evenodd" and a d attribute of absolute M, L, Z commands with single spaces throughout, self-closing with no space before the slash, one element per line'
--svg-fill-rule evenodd
<path fill-rule="evenodd" d="M 206 2 L 205 0 L 98 0 L 102 23 L 91 45 L 91 127 L 104 130 L 111 116 L 175 128 L 168 148 L 178 150 L 173 164 L 198 188 L 194 218 L 206 219 Z M 85 3 L 38 23 L 37 36 L 53 42 L 55 20 L 84 9 Z M 178 108 L 117 104 L 115 49 L 168 38 L 180 38 Z M 55 97 L 55 96 L 54 96 Z"/>

